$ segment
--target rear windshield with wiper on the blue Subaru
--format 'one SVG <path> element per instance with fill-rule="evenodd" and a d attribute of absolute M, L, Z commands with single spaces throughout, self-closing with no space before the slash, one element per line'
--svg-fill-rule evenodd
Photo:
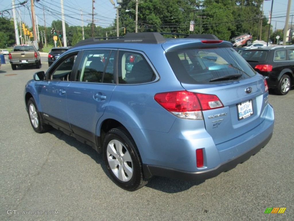
<path fill-rule="evenodd" d="M 208 84 L 240 80 L 256 73 L 233 48 L 188 48 L 166 53 L 178 80 L 187 84 Z"/>

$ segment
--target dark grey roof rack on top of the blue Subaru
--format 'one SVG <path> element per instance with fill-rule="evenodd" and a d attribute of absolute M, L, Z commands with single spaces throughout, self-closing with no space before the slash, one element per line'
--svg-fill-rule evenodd
<path fill-rule="evenodd" d="M 214 34 L 180 34 L 180 33 L 168 33 L 168 32 L 139 32 L 139 33 L 127 33 L 124 37 L 100 37 L 100 38 L 88 38 L 78 42 L 74 47 L 87 45 L 87 44 L 102 44 L 107 40 L 111 43 L 146 43 L 146 44 L 158 44 L 166 42 L 163 34 L 184 36 L 185 38 L 198 38 L 198 39 L 213 39 L 219 40 Z"/>

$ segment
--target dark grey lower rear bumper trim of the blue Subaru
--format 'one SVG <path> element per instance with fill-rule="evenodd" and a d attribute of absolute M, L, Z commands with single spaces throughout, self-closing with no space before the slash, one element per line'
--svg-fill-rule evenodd
<path fill-rule="evenodd" d="M 229 171 L 233 168 L 235 168 L 238 164 L 245 162 L 250 158 L 250 156 L 258 153 L 260 149 L 262 149 L 271 139 L 273 133 L 270 133 L 270 135 L 263 140 L 260 144 L 253 147 L 249 151 L 245 152 L 242 155 L 236 156 L 233 159 L 230 159 L 229 161 L 224 162 L 223 164 L 220 164 L 219 166 L 205 170 L 205 171 L 199 171 L 199 172 L 187 172 L 187 171 L 181 171 L 161 166 L 153 166 L 153 165 L 147 165 L 143 164 L 143 172 L 144 176 L 146 178 L 151 178 L 152 176 L 160 176 L 160 177 L 168 177 L 168 178 L 176 178 L 186 181 L 199 181 L 199 180 L 206 180 L 213 177 L 216 177 L 218 174 L 222 172 Z"/>

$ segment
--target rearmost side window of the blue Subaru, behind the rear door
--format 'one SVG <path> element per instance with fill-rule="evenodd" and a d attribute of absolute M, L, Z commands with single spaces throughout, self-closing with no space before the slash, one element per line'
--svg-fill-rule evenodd
<path fill-rule="evenodd" d="M 156 75 L 143 55 L 136 52 L 119 51 L 118 83 L 141 84 L 156 79 Z"/>

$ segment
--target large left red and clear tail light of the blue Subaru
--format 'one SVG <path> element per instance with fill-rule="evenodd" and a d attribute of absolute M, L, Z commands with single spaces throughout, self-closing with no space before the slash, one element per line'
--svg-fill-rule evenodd
<path fill-rule="evenodd" d="M 203 120 L 202 110 L 223 107 L 216 95 L 186 90 L 158 93 L 154 100 L 163 108 L 183 119 Z"/>

